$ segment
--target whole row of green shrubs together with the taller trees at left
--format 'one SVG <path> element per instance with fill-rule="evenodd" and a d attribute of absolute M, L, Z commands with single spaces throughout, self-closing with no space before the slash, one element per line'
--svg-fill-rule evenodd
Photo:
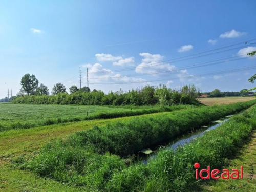
<path fill-rule="evenodd" d="M 26 74 L 20 82 L 22 88 L 14 98 L 14 103 L 35 104 L 84 104 L 84 105 L 172 105 L 198 103 L 199 90 L 194 85 L 183 86 L 181 89 L 169 89 L 164 85 L 158 87 L 145 86 L 128 92 L 120 91 L 105 94 L 100 90 L 91 91 L 88 87 L 69 88 L 57 83 L 49 95 L 49 89 L 36 79 L 35 75 Z"/>

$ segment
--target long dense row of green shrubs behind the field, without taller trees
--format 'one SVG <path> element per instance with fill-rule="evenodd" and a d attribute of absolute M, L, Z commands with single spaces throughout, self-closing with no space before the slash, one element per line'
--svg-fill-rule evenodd
<path fill-rule="evenodd" d="M 160 85 L 157 88 L 145 86 L 142 89 L 122 90 L 104 94 L 102 91 L 59 93 L 56 95 L 30 95 L 14 99 L 14 103 L 24 104 L 84 104 L 84 105 L 154 105 L 161 104 L 198 104 L 199 92 L 195 86 L 184 86 L 181 90 L 167 89 Z"/>

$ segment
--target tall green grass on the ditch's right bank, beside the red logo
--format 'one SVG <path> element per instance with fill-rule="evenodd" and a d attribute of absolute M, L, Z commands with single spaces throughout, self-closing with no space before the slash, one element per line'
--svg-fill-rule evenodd
<path fill-rule="evenodd" d="M 195 142 L 172 150 L 162 150 L 148 165 L 135 164 L 115 173 L 106 191 L 192 191 L 197 187 L 194 163 L 221 168 L 236 154 L 252 129 L 256 128 L 256 106 L 232 117 L 216 130 Z"/>

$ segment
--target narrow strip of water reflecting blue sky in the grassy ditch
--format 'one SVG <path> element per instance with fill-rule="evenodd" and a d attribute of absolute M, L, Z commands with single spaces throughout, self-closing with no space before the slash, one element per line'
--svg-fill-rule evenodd
<path fill-rule="evenodd" d="M 194 139 L 203 136 L 206 132 L 216 129 L 217 127 L 222 125 L 222 123 L 228 121 L 230 117 L 231 116 L 227 116 L 226 118 L 222 119 L 221 121 L 219 121 L 219 122 L 217 121 L 218 123 L 211 123 L 208 127 L 203 126 L 201 129 L 199 129 L 195 132 L 190 132 L 186 135 L 178 137 L 176 140 L 174 140 L 171 143 L 168 143 L 167 145 L 165 145 L 164 148 L 165 148 L 165 150 L 168 150 L 168 149 L 176 150 L 178 147 L 182 147 L 185 144 L 190 143 Z M 138 159 L 140 159 L 144 164 L 147 164 L 147 161 L 149 159 L 155 158 L 156 155 L 157 155 L 157 148 L 151 154 L 148 154 L 148 155 L 140 154 L 138 156 Z"/>

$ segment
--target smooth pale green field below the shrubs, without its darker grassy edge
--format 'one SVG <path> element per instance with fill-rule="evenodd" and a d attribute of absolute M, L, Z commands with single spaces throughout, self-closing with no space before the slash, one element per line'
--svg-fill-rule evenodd
<path fill-rule="evenodd" d="M 83 105 L 33 105 L 33 104 L 1 104 L 0 130 L 18 127 L 35 127 L 47 124 L 50 120 L 82 119 L 97 113 L 120 112 L 129 109 L 108 108 L 105 106 Z M 131 109 L 130 109 L 131 110 Z"/>

